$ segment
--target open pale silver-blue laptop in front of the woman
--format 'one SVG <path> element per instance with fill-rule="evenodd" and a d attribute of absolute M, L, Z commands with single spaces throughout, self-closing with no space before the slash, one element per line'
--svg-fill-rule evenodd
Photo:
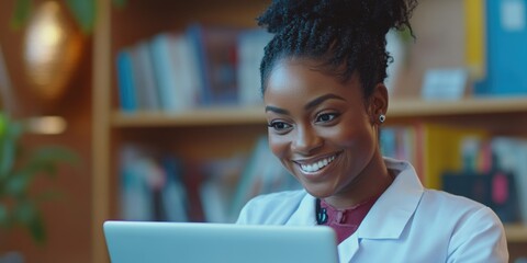
<path fill-rule="evenodd" d="M 336 236 L 324 226 L 105 221 L 113 263 L 337 263 Z"/>

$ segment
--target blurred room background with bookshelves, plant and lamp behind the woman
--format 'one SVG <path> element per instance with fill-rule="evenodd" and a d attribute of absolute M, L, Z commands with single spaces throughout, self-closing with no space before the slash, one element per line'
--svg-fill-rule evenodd
<path fill-rule="evenodd" d="M 104 220 L 233 222 L 299 187 L 266 141 L 269 2 L 1 0 L 0 262 L 109 262 Z M 527 1 L 419 2 L 386 35 L 382 150 L 493 208 L 523 262 Z"/>

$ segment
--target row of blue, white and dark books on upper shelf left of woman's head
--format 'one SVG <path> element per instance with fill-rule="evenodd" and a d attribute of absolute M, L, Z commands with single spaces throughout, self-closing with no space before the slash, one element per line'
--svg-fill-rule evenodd
<path fill-rule="evenodd" d="M 124 112 L 177 113 L 260 102 L 259 65 L 270 34 L 192 24 L 122 48 L 117 93 Z"/>

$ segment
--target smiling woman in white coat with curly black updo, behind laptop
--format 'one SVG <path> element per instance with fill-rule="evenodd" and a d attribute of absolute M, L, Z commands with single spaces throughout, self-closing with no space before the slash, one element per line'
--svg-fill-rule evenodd
<path fill-rule="evenodd" d="M 304 191 L 264 195 L 238 224 L 327 225 L 340 262 L 507 262 L 487 207 L 427 190 L 383 158 L 385 35 L 408 27 L 412 0 L 273 1 L 261 62 L 269 146 Z"/>

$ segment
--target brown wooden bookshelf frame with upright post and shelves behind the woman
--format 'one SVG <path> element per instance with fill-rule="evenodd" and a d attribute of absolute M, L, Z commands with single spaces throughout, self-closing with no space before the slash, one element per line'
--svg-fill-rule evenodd
<path fill-rule="evenodd" d="M 209 23 L 254 24 L 254 18 L 269 1 L 211 0 L 141 1 L 130 0 L 123 10 L 111 0 L 98 0 L 98 26 L 93 35 L 93 130 L 92 130 L 92 262 L 108 262 L 102 222 L 117 215 L 115 181 L 120 144 L 134 139 L 173 144 L 180 152 L 221 152 L 222 147 L 247 147 L 251 138 L 265 134 L 262 106 L 197 108 L 182 113 L 119 111 L 114 57 L 123 46 L 153 34 L 182 28 L 191 20 Z M 203 9 L 214 3 L 213 8 Z M 167 7 L 168 5 L 168 7 Z M 257 91 L 255 91 L 257 92 Z M 527 96 L 481 98 L 461 101 L 392 99 L 388 125 L 405 122 L 446 122 L 481 126 L 496 133 L 527 134 Z M 260 126 L 261 124 L 261 126 Z M 496 128 L 497 127 L 497 128 Z M 155 138 L 153 138 L 155 137 Z M 205 138 L 198 141 L 198 138 Z M 234 138 L 234 139 L 233 139 Z M 223 140 L 223 142 L 218 142 Z M 159 142 L 161 141 L 161 142 Z M 233 142 L 234 141 L 234 142 Z M 242 142 L 243 141 L 243 142 Z M 527 242 L 527 227 L 506 226 L 509 242 Z"/>

